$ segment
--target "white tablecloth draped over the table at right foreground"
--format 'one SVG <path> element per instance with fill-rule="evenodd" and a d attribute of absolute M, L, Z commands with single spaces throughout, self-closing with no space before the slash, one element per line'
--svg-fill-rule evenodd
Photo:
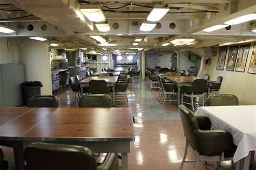
<path fill-rule="evenodd" d="M 256 150 L 256 105 L 200 107 L 195 115 L 207 116 L 213 129 L 232 134 L 238 146 L 234 162 Z"/>

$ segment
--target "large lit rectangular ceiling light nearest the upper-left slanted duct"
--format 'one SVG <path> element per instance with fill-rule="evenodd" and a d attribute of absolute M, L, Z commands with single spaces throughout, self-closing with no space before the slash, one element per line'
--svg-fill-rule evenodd
<path fill-rule="evenodd" d="M 88 18 L 91 22 L 104 22 L 106 20 L 104 13 L 99 5 L 86 5 L 82 7 L 80 11 Z"/>

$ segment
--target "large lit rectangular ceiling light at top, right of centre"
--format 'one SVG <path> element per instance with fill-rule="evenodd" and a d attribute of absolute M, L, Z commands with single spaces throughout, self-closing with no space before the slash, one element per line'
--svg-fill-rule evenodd
<path fill-rule="evenodd" d="M 163 18 L 169 10 L 169 8 L 164 8 L 164 5 L 154 5 L 149 16 L 147 16 L 147 20 L 150 22 L 157 22 Z"/>

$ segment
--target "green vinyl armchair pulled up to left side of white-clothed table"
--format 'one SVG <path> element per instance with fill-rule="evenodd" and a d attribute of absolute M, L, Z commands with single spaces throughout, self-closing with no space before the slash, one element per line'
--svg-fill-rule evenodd
<path fill-rule="evenodd" d="M 180 170 L 187 162 L 195 162 L 194 169 L 198 169 L 199 161 L 216 161 L 216 169 L 219 169 L 220 161 L 233 160 L 237 146 L 233 144 L 230 133 L 225 130 L 211 130 L 211 121 L 208 117 L 194 116 L 185 105 L 178 107 L 186 137 L 185 153 Z M 196 161 L 186 160 L 188 148 L 196 157 Z"/>

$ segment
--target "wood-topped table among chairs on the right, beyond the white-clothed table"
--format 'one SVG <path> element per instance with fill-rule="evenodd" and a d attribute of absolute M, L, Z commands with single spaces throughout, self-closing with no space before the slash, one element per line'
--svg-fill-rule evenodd
<path fill-rule="evenodd" d="M 183 87 L 185 84 L 191 85 L 194 80 L 201 79 L 200 77 L 196 76 L 164 76 L 166 79 L 172 81 L 176 86 L 178 87 L 178 99 L 177 99 L 177 104 L 180 103 L 180 95 L 181 95 L 181 87 Z M 207 81 L 207 87 L 208 87 L 208 93 L 207 93 L 207 98 L 210 95 L 210 86 L 212 85 L 212 81 L 208 80 Z"/>

